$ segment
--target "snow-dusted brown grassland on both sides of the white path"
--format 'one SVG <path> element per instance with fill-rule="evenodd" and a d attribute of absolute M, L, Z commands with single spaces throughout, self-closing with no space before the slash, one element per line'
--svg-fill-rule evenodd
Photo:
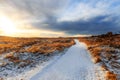
<path fill-rule="evenodd" d="M 71 38 L 15 38 L 0 36 L 0 77 L 8 67 L 16 70 L 44 61 L 54 52 L 64 51 L 74 45 Z M 106 80 L 120 79 L 120 34 L 111 32 L 98 36 L 81 37 L 88 46 L 94 63 L 106 71 Z M 7 74 L 8 75 L 8 74 Z M 2 78 L 1 78 L 2 79 Z"/>

